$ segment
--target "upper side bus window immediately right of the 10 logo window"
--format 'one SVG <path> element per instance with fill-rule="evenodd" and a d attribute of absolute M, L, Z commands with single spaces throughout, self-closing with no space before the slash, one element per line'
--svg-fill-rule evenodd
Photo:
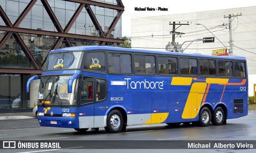
<path fill-rule="evenodd" d="M 130 54 L 108 53 L 109 73 L 132 73 L 132 60 Z"/>

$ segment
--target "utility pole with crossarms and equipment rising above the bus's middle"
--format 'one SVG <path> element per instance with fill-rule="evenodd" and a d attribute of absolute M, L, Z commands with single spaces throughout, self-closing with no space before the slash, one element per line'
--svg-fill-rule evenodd
<path fill-rule="evenodd" d="M 180 47 L 178 47 L 178 43 L 177 43 L 177 44 L 175 43 L 175 34 L 177 34 L 177 36 L 180 35 L 180 37 L 181 37 L 181 35 L 182 35 L 182 34 L 185 34 L 185 33 L 176 32 L 175 30 L 178 29 L 178 27 L 180 27 L 180 26 L 182 26 L 182 25 L 189 25 L 189 24 L 180 24 L 180 22 L 179 22 L 178 24 L 176 24 L 176 22 L 172 22 L 172 24 L 171 24 L 171 22 L 170 22 L 169 25 L 172 25 L 172 31 L 170 31 L 170 34 L 172 33 L 172 42 L 171 42 L 171 45 L 168 44 L 167 46 L 172 46 L 172 47 L 170 47 L 171 49 L 173 49 L 172 51 L 178 51 L 178 48 L 180 48 Z M 176 25 L 180 25 L 180 26 L 178 26 L 178 27 L 176 28 L 176 27 L 175 27 Z M 168 48 L 168 47 L 166 47 L 166 50 L 167 50 L 167 51 L 170 51 L 170 49 L 167 49 L 167 48 Z M 179 51 L 178 51 L 178 52 L 179 52 Z"/>

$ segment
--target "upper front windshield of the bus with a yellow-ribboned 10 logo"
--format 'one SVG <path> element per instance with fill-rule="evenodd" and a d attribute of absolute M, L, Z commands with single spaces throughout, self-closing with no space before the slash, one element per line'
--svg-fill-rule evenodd
<path fill-rule="evenodd" d="M 49 54 L 44 71 L 59 69 L 80 69 L 84 52 L 69 51 Z"/>

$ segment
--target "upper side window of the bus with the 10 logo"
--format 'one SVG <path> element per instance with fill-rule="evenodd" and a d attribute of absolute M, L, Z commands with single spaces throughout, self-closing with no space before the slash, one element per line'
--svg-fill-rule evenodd
<path fill-rule="evenodd" d="M 89 52 L 86 54 L 84 69 L 105 72 L 105 53 Z"/>

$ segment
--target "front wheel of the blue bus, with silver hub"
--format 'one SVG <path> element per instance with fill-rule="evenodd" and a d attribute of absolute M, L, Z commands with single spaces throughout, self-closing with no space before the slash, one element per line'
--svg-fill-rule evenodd
<path fill-rule="evenodd" d="M 119 110 L 112 110 L 107 117 L 106 131 L 109 133 L 117 133 L 121 131 L 123 125 L 124 120 L 121 112 Z"/>

